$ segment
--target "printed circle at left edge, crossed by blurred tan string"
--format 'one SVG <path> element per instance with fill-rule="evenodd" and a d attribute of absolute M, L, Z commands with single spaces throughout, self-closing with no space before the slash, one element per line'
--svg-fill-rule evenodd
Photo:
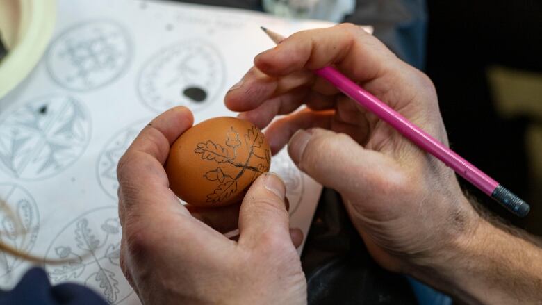
<path fill-rule="evenodd" d="M 6 209 L 4 204 L 7 204 L 9 209 Z M 40 213 L 34 198 L 20 186 L 0 183 L 0 207 L 0 242 L 19 252 L 30 252 L 40 229 Z M 13 213 L 11 216 L 16 217 L 18 222 L 13 221 L 8 211 Z M 10 274 L 21 263 L 22 260 L 17 256 L 0 252 L 0 277 Z"/>

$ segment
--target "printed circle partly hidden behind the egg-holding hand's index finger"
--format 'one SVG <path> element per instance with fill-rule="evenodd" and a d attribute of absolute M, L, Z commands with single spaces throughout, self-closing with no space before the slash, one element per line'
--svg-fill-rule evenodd
<path fill-rule="evenodd" d="M 148 122 L 148 121 L 146 121 Z M 112 199 L 117 199 L 117 164 L 126 149 L 136 139 L 138 133 L 145 126 L 144 121 L 132 124 L 118 132 L 108 140 L 106 147 L 101 151 L 96 165 L 96 175 L 101 188 Z"/>

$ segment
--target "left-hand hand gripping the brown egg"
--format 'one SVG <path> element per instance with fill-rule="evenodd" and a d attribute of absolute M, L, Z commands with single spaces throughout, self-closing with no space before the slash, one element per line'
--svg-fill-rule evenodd
<path fill-rule="evenodd" d="M 144 304 L 305 304 L 306 281 L 295 250 L 302 236 L 289 230 L 286 189 L 278 176 L 262 174 L 249 188 L 240 205 L 238 241 L 192 216 L 168 188 L 163 164 L 192 122 L 187 108 L 168 110 L 141 131 L 119 162 L 126 278 Z"/>

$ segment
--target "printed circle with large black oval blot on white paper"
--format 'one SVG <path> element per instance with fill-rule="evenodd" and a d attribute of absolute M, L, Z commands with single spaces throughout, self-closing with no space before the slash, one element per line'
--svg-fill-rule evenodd
<path fill-rule="evenodd" d="M 224 80 L 220 53 L 206 42 L 186 40 L 151 57 L 140 72 L 138 91 L 156 112 L 173 106 L 198 110 L 214 101 Z"/>

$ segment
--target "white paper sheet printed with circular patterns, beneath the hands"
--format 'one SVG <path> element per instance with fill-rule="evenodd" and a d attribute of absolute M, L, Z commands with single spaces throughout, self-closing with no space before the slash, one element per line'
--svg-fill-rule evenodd
<path fill-rule="evenodd" d="M 176 104 L 190 107 L 195 122 L 234 115 L 224 94 L 273 46 L 261 25 L 288 35 L 330 24 L 179 3 L 60 0 L 49 50 L 0 100 L 0 198 L 28 231 L 13 234 L 0 213 L 1 240 L 40 257 L 73 258 L 45 266 L 53 283 L 75 281 L 111 304 L 140 304 L 119 267 L 117 161 L 152 117 Z M 186 88 L 206 99 L 188 99 Z M 306 236 L 321 186 L 286 151 L 272 171 L 288 186 L 291 225 Z M 0 286 L 13 286 L 28 267 L 0 253 Z"/>

